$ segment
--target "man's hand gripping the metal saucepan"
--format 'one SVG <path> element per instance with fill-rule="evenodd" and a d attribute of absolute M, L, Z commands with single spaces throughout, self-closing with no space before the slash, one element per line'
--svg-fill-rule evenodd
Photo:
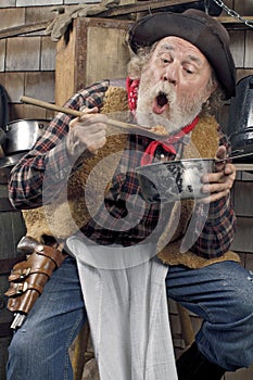
<path fill-rule="evenodd" d="M 219 147 L 216 152 L 217 160 L 227 157 L 227 150 L 225 147 Z M 231 163 L 224 161 L 215 165 L 216 172 L 205 174 L 202 178 L 203 193 L 210 193 L 208 197 L 201 200 L 203 203 L 211 203 L 226 197 L 236 179 L 236 167 Z"/>

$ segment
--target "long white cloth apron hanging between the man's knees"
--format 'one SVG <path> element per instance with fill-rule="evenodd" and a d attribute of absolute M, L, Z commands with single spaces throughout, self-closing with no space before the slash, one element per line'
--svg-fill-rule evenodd
<path fill-rule="evenodd" d="M 67 246 L 77 261 L 100 380 L 177 380 L 165 277 L 155 245 Z M 129 258 L 130 257 L 130 258 Z"/>

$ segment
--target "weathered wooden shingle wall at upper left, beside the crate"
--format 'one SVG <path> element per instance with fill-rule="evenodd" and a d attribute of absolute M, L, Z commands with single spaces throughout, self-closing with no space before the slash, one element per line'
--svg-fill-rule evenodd
<path fill-rule="evenodd" d="M 81 1 L 80 1 L 81 2 Z M 0 29 L 50 22 L 61 5 L 78 1 L 1 0 Z M 85 1 L 83 1 L 85 2 Z M 98 1 L 89 1 L 98 2 Z M 43 30 L 0 39 L 0 84 L 10 97 L 10 121 L 20 118 L 50 118 L 51 111 L 22 104 L 23 94 L 54 102 L 56 43 Z"/>

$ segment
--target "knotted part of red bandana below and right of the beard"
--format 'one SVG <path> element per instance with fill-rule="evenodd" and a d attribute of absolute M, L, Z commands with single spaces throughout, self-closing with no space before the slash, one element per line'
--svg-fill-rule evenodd
<path fill-rule="evenodd" d="M 151 141 L 141 157 L 141 165 L 148 165 L 152 163 L 157 147 L 162 147 L 166 152 L 176 154 L 177 152 L 173 144 L 175 142 L 178 142 L 185 135 L 189 134 L 195 127 L 198 122 L 199 116 L 197 116 L 191 124 L 184 127 L 178 134 L 173 135 L 163 141 Z"/>

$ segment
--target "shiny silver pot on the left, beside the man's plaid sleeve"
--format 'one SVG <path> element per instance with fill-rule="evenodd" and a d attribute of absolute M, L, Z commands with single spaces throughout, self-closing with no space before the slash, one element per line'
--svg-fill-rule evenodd
<path fill-rule="evenodd" d="M 49 123 L 50 121 L 46 119 L 20 119 L 9 123 L 5 126 L 5 155 L 33 149 Z"/>

